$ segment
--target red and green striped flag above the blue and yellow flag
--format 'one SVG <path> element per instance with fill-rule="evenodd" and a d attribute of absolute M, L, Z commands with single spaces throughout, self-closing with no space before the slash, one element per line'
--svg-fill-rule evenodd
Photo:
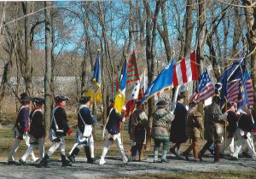
<path fill-rule="evenodd" d="M 126 83 L 130 84 L 132 82 L 136 82 L 137 80 L 140 80 L 140 76 L 137 70 L 137 58 L 133 50 L 128 61 Z"/>

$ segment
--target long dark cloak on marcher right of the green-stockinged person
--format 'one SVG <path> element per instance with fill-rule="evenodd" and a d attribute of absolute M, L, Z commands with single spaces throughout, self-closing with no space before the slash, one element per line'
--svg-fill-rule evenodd
<path fill-rule="evenodd" d="M 170 141 L 173 143 L 184 143 L 188 139 L 186 135 L 188 111 L 182 103 L 177 102 L 174 115 L 175 118 L 172 121 Z"/>

